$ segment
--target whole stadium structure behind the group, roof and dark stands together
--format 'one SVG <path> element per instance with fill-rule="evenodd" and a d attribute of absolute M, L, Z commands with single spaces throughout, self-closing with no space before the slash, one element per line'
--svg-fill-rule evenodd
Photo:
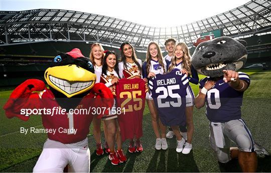
<path fill-rule="evenodd" d="M 58 53 L 79 48 L 88 57 L 94 42 L 115 51 L 119 57 L 120 44 L 130 42 L 138 58 L 145 60 L 152 41 L 160 45 L 165 56 L 165 40 L 175 38 L 185 42 L 192 55 L 193 41 L 210 32 L 247 41 L 246 67 L 262 64 L 270 68 L 270 7 L 267 0 L 250 1 L 228 12 L 176 27 L 150 27 L 68 10 L 0 11 L 0 86 L 17 85 L 30 77 L 43 79 L 44 70 Z"/>

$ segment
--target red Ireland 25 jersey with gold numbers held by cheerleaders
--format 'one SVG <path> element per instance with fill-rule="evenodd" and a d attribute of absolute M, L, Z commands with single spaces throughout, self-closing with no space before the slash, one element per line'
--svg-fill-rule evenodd
<path fill-rule="evenodd" d="M 145 108 L 146 85 L 143 79 L 120 79 L 116 85 L 117 105 L 125 108 L 118 115 L 121 139 L 131 139 L 134 135 L 143 135 L 142 119 Z"/>

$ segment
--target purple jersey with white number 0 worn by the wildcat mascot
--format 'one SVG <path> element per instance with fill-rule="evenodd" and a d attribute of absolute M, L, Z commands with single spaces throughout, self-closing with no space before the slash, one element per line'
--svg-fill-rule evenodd
<path fill-rule="evenodd" d="M 249 76 L 245 73 L 238 72 L 239 79 L 250 84 Z M 208 80 L 213 80 L 206 77 L 200 80 L 200 88 Z M 212 89 L 210 89 L 205 97 L 206 116 L 212 122 L 228 122 L 234 119 L 241 118 L 241 105 L 243 93 L 231 88 L 228 83 L 223 81 L 223 76 L 216 81 Z"/>

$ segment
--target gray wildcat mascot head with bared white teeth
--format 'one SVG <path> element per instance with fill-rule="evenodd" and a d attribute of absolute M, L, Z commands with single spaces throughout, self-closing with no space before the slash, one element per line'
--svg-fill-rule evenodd
<path fill-rule="evenodd" d="M 192 65 L 205 76 L 223 76 L 223 70 L 237 71 L 243 67 L 247 58 L 244 40 L 219 37 L 200 43 L 193 56 Z"/>

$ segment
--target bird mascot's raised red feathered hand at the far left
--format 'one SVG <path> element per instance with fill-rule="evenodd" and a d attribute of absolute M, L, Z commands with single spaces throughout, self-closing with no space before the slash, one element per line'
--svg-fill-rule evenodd
<path fill-rule="evenodd" d="M 19 85 L 12 92 L 9 100 L 4 105 L 6 116 L 12 118 L 14 116 L 26 121 L 29 116 L 25 116 L 22 113 L 22 109 L 34 109 L 40 108 L 40 97 L 38 93 L 32 93 L 33 91 L 43 91 L 45 89 L 45 83 L 38 79 L 29 79 Z"/>

